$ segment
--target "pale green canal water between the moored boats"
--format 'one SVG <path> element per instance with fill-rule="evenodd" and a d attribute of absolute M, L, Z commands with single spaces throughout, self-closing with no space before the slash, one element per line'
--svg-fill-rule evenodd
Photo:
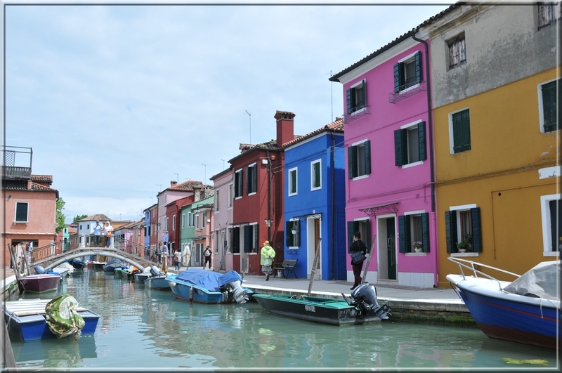
<path fill-rule="evenodd" d="M 532 369 L 558 370 L 554 350 L 488 339 L 479 329 L 384 320 L 336 327 L 271 315 L 256 302 L 204 305 L 100 270 L 75 271 L 58 292 L 101 315 L 79 341 L 12 339 L 23 370 Z M 16 292 L 8 300 L 16 300 Z M 24 294 L 25 299 L 37 298 Z M 39 296 L 52 298 L 53 294 Z M 548 365 L 508 365 L 503 358 Z"/>

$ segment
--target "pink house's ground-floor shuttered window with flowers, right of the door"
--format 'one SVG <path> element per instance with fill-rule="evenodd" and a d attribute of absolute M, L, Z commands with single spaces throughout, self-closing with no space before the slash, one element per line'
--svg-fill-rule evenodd
<path fill-rule="evenodd" d="M 414 211 L 398 216 L 398 240 L 401 253 L 414 252 L 414 242 L 421 242 L 421 251 L 429 253 L 429 214 Z"/>

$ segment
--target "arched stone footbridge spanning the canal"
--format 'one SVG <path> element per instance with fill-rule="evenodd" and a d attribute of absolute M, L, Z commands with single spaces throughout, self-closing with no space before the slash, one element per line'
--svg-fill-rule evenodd
<path fill-rule="evenodd" d="M 115 249 L 112 247 L 77 247 L 69 251 L 62 252 L 60 254 L 49 255 L 44 259 L 39 259 L 32 261 L 30 263 L 30 267 L 34 268 L 34 266 L 39 266 L 49 269 L 55 268 L 65 261 L 72 261 L 74 258 L 81 258 L 82 256 L 107 256 L 117 260 L 124 261 L 125 263 L 129 263 L 132 266 L 135 266 L 139 270 L 144 270 L 146 267 L 150 266 L 159 266 L 158 263 L 154 263 L 152 261 L 148 261 L 147 259 L 142 258 L 136 254 L 131 254 L 129 252 L 123 251 L 121 249 Z M 33 258 L 33 256 L 32 256 Z"/>

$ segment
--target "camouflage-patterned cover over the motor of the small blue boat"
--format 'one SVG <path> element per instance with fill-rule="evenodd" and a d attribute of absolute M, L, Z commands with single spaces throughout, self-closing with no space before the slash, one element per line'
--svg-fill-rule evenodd
<path fill-rule="evenodd" d="M 58 296 L 47 303 L 47 325 L 57 338 L 74 334 L 74 339 L 78 339 L 86 322 L 77 313 L 77 308 L 78 301 L 69 294 Z"/>

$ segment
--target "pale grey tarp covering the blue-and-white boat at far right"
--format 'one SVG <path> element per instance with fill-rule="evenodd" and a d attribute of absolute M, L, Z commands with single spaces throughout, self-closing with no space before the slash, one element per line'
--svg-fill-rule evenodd
<path fill-rule="evenodd" d="M 560 296 L 557 289 L 559 273 L 560 261 L 543 261 L 504 287 L 504 290 L 511 294 L 559 301 Z"/>

